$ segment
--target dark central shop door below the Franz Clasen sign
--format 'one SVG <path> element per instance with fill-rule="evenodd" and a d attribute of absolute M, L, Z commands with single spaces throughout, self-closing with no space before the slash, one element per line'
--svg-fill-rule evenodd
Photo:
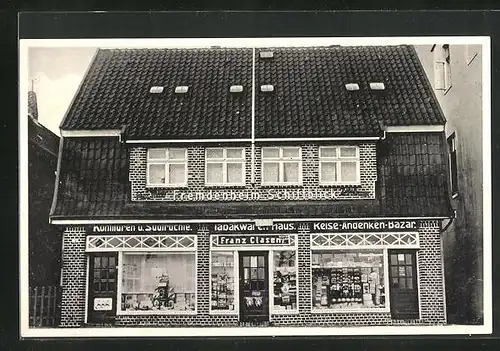
<path fill-rule="evenodd" d="M 240 321 L 269 320 L 267 251 L 240 251 Z"/>

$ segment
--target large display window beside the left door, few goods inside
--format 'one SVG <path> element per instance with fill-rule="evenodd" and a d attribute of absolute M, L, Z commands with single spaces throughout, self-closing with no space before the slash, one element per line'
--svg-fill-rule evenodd
<path fill-rule="evenodd" d="M 123 252 L 121 262 L 119 312 L 195 312 L 194 252 Z"/>

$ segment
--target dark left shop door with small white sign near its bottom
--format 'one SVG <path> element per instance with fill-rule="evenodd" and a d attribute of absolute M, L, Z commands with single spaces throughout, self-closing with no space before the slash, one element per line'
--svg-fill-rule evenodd
<path fill-rule="evenodd" d="M 90 255 L 88 323 L 113 323 L 116 316 L 116 267 L 115 252 Z"/>

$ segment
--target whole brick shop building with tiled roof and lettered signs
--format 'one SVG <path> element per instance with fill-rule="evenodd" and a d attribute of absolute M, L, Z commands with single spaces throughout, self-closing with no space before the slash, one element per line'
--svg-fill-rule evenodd
<path fill-rule="evenodd" d="M 99 50 L 61 124 L 61 326 L 446 324 L 411 46 Z"/>

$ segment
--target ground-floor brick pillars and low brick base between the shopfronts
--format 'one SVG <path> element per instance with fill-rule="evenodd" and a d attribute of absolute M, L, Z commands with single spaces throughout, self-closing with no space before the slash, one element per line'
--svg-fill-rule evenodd
<path fill-rule="evenodd" d="M 299 313 L 271 315 L 274 326 L 369 326 L 369 325 L 441 325 L 446 323 L 441 265 L 440 224 L 425 221 L 419 224 L 418 253 L 421 319 L 392 320 L 389 312 L 311 313 L 311 247 L 307 224 L 298 231 L 298 293 Z M 209 314 L 209 235 L 198 230 L 197 315 L 133 315 L 117 316 L 116 326 L 238 326 L 238 316 Z M 63 298 L 61 326 L 77 327 L 84 322 L 86 254 L 83 228 L 64 232 Z M 387 269 L 387 268 L 386 268 Z"/>

